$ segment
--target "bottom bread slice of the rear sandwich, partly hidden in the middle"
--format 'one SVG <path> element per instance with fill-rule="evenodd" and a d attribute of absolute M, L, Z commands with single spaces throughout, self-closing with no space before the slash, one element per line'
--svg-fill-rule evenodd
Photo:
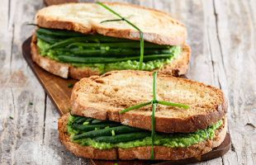
<path fill-rule="evenodd" d="M 41 68 L 44 68 L 46 71 L 53 73 L 61 78 L 81 79 L 100 74 L 97 70 L 89 67 L 77 68 L 73 67 L 71 64 L 59 63 L 53 59 L 43 57 L 40 55 L 36 45 L 36 35 L 32 36 L 31 54 L 32 59 L 36 62 L 36 64 L 38 64 Z M 177 59 L 173 59 L 171 64 L 167 64 L 164 66 L 164 68 L 161 68 L 159 72 L 171 74 L 173 76 L 185 74 L 187 72 L 190 56 L 191 49 L 189 45 L 184 45 L 183 53 L 178 55 Z"/>

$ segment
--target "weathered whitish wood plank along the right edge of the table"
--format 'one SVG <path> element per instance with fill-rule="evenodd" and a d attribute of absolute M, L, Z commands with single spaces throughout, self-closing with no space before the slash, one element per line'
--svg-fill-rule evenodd
<path fill-rule="evenodd" d="M 254 4 L 253 4 L 254 3 Z M 215 2 L 221 64 L 229 98 L 229 128 L 233 147 L 224 156 L 225 164 L 255 164 L 256 57 L 255 1 Z"/>

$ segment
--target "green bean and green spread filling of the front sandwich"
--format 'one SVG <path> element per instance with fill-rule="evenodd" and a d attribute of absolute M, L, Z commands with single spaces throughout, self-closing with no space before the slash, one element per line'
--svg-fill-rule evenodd
<path fill-rule="evenodd" d="M 154 145 L 178 148 L 198 144 L 206 139 L 213 139 L 215 131 L 222 124 L 223 121 L 219 120 L 206 130 L 197 130 L 197 132 L 187 134 L 157 132 Z M 113 121 L 70 115 L 67 130 L 73 142 L 93 148 L 133 148 L 152 144 L 149 130 L 141 130 Z"/>

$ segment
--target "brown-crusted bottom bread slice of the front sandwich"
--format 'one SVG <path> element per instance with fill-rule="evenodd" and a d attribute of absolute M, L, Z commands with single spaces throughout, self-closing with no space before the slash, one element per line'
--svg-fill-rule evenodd
<path fill-rule="evenodd" d="M 59 139 L 65 147 L 75 155 L 83 158 L 96 158 L 96 159 L 150 159 L 151 146 L 149 147 L 136 147 L 136 148 L 111 148 L 111 149 L 98 149 L 90 146 L 82 146 L 70 141 L 69 134 L 67 133 L 67 122 L 69 114 L 63 115 L 59 119 Z M 143 122 L 143 121 L 141 121 Z M 199 157 L 204 153 L 208 153 L 212 148 L 219 146 L 225 139 L 226 134 L 226 118 L 225 124 L 216 130 L 214 139 L 208 139 L 200 144 L 194 144 L 187 148 L 168 148 L 164 146 L 154 146 L 154 158 L 156 160 L 178 160 L 184 158 Z"/>

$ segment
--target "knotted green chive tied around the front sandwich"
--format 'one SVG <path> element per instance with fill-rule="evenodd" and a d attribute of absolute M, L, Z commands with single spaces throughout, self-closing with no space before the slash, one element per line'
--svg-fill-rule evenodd
<path fill-rule="evenodd" d="M 158 101 L 157 100 L 157 72 L 153 73 L 154 79 L 153 79 L 153 100 L 152 101 L 148 101 L 145 103 L 141 103 L 139 105 L 136 106 L 130 106 L 129 108 L 126 108 L 122 111 L 120 111 L 119 113 L 126 113 L 127 111 L 131 111 L 131 110 L 135 110 L 135 109 L 139 109 L 140 107 L 144 107 L 144 106 L 148 106 L 149 104 L 152 105 L 152 115 L 151 115 L 151 120 L 152 120 L 152 130 L 151 130 L 151 139 L 152 139 L 152 149 L 151 149 L 151 159 L 154 159 L 154 137 L 155 137 L 155 110 L 156 110 L 156 106 L 158 104 L 164 105 L 164 106 L 178 106 L 180 108 L 183 109 L 188 109 L 190 106 L 187 106 L 185 104 L 181 104 L 181 103 L 173 103 L 173 102 L 169 102 L 169 101 Z"/>

